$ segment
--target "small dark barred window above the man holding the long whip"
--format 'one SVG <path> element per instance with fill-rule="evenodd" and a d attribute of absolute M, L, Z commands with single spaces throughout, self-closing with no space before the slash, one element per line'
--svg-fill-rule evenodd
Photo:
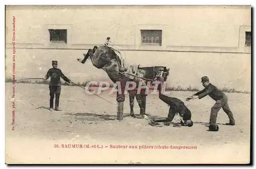
<path fill-rule="evenodd" d="M 52 43 L 67 43 L 66 29 L 49 29 L 50 42 Z"/>

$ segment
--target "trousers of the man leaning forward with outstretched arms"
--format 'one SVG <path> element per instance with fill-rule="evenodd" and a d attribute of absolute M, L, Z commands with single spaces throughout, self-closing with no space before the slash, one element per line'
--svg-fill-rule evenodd
<path fill-rule="evenodd" d="M 233 113 L 231 112 L 229 106 L 228 106 L 228 98 L 226 94 L 223 96 L 222 99 L 217 100 L 215 105 L 211 107 L 210 111 L 210 125 L 215 125 L 217 120 L 217 115 L 220 109 L 223 109 L 223 111 L 227 114 L 229 118 L 229 123 L 234 124 L 234 117 Z"/>

